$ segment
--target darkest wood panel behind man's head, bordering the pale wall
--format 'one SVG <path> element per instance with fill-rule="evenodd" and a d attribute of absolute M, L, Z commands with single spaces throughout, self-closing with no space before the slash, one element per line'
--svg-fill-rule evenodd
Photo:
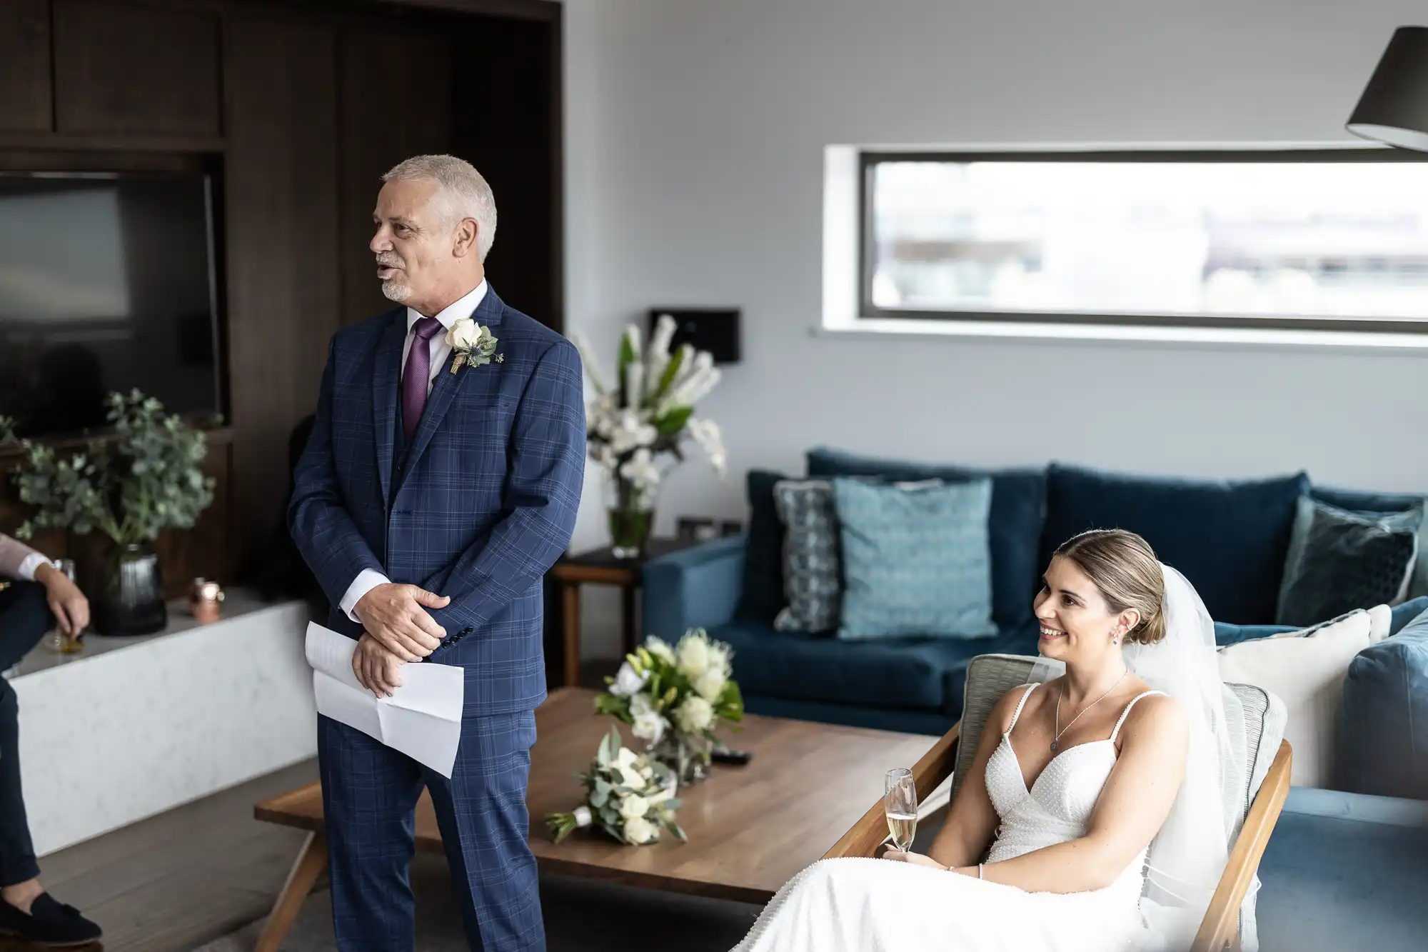
<path fill-rule="evenodd" d="M 564 329 L 558 21 L 476 20 L 456 63 L 456 154 L 496 193 L 491 284 L 517 310 Z"/>

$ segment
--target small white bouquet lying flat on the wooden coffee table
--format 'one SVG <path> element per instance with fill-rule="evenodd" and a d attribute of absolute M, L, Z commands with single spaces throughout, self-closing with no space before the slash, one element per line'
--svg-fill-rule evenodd
<path fill-rule="evenodd" d="M 680 800 L 668 773 L 658 760 L 621 746 L 620 732 L 611 729 L 600 742 L 590 773 L 575 775 L 585 785 L 585 802 L 570 813 L 551 813 L 545 826 L 557 843 L 583 826 L 598 826 L 630 846 L 658 842 L 665 829 L 688 839 L 674 822 Z"/>

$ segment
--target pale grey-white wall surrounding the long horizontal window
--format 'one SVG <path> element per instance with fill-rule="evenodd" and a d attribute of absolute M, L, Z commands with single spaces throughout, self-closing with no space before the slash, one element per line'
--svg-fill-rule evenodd
<path fill-rule="evenodd" d="M 828 143 L 1334 142 L 1422 0 L 567 0 L 568 322 L 613 356 L 654 304 L 744 310 L 701 412 L 733 473 L 818 442 L 964 463 L 1428 489 L 1428 357 L 810 336 Z M 577 547 L 604 539 L 598 483 Z M 610 653 L 591 602 L 587 653 Z"/>

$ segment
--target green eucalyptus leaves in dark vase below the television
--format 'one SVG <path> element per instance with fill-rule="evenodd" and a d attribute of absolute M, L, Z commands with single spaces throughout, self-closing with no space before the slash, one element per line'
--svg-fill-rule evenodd
<path fill-rule="evenodd" d="M 20 442 L 24 463 L 13 479 L 33 512 L 19 537 L 46 527 L 99 529 L 121 546 L 153 542 L 161 529 L 191 527 L 213 503 L 201 432 L 166 416 L 163 403 L 139 390 L 110 393 L 106 403 L 114 436 L 90 440 L 86 452 Z M 13 439 L 7 423 L 0 420 L 0 436 Z"/>

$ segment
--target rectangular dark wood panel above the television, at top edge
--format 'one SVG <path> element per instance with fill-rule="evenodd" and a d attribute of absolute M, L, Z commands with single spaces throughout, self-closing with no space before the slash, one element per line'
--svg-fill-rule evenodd
<path fill-rule="evenodd" d="M 54 113 L 63 133 L 217 136 L 218 19 L 54 0 Z"/>

